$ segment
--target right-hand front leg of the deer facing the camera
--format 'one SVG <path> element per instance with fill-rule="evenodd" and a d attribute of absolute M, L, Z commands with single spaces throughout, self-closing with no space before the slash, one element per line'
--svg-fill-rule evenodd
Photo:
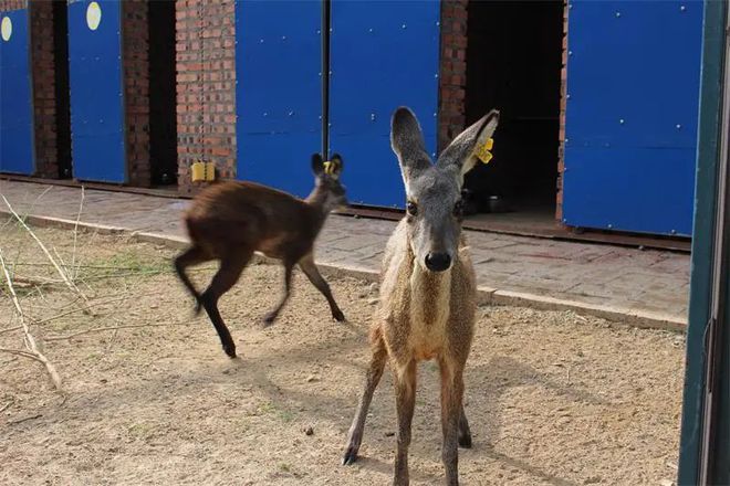
<path fill-rule="evenodd" d="M 459 442 L 469 424 L 461 405 L 463 398 L 463 366 L 453 359 L 441 359 L 441 429 L 444 446 L 441 459 L 446 469 L 446 484 L 459 484 Z M 465 431 L 466 429 L 466 431 Z M 460 437 L 462 435 L 462 437 Z M 466 441 L 465 441 L 466 442 Z M 469 435 L 469 444 L 471 436 Z"/>

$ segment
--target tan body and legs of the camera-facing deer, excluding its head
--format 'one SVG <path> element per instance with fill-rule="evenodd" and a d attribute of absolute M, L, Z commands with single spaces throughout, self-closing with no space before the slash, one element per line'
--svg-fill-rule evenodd
<path fill-rule="evenodd" d="M 380 306 L 371 329 L 373 355 L 365 389 L 350 429 L 345 464 L 357 457 L 367 409 L 386 361 L 389 361 L 398 412 L 394 485 L 408 484 L 416 366 L 419 361 L 435 359 L 441 370 L 442 458 L 447 484 L 458 485 L 457 440 L 463 446 L 471 445 L 461 399 L 476 308 L 476 278 L 465 239 L 461 237 L 458 257 L 449 271 L 428 272 L 415 260 L 404 219 L 390 236 L 383 261 Z M 447 447 L 449 443 L 452 446 Z"/>

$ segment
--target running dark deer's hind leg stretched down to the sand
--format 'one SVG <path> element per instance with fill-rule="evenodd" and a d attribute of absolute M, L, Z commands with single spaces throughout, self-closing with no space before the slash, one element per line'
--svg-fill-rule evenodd
<path fill-rule="evenodd" d="M 243 272 L 243 268 L 246 268 L 246 265 L 249 263 L 251 254 L 252 253 L 250 252 L 246 254 L 231 253 L 221 258 L 218 273 L 213 275 L 210 285 L 200 296 L 202 306 L 206 309 L 206 313 L 208 313 L 208 317 L 210 317 L 213 327 L 218 331 L 220 342 L 223 346 L 223 351 L 226 351 L 226 355 L 230 358 L 236 358 L 236 344 L 231 338 L 228 327 L 226 327 L 226 323 L 223 323 L 223 318 L 220 316 L 220 311 L 218 310 L 218 299 L 236 285 L 241 276 L 241 272 Z"/>

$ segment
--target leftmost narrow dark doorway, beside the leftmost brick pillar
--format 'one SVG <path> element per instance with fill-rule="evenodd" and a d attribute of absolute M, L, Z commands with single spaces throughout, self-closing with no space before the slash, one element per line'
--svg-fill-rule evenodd
<path fill-rule="evenodd" d="M 59 179 L 70 179 L 71 95 L 69 89 L 69 10 L 65 1 L 53 1 L 53 64 L 55 71 L 55 136 Z"/>

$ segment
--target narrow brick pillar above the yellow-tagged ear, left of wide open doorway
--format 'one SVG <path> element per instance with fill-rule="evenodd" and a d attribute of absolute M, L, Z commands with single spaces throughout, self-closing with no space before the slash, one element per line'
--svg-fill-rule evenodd
<path fill-rule="evenodd" d="M 441 1 L 439 151 L 459 135 L 466 125 L 468 3 L 469 0 Z"/>

